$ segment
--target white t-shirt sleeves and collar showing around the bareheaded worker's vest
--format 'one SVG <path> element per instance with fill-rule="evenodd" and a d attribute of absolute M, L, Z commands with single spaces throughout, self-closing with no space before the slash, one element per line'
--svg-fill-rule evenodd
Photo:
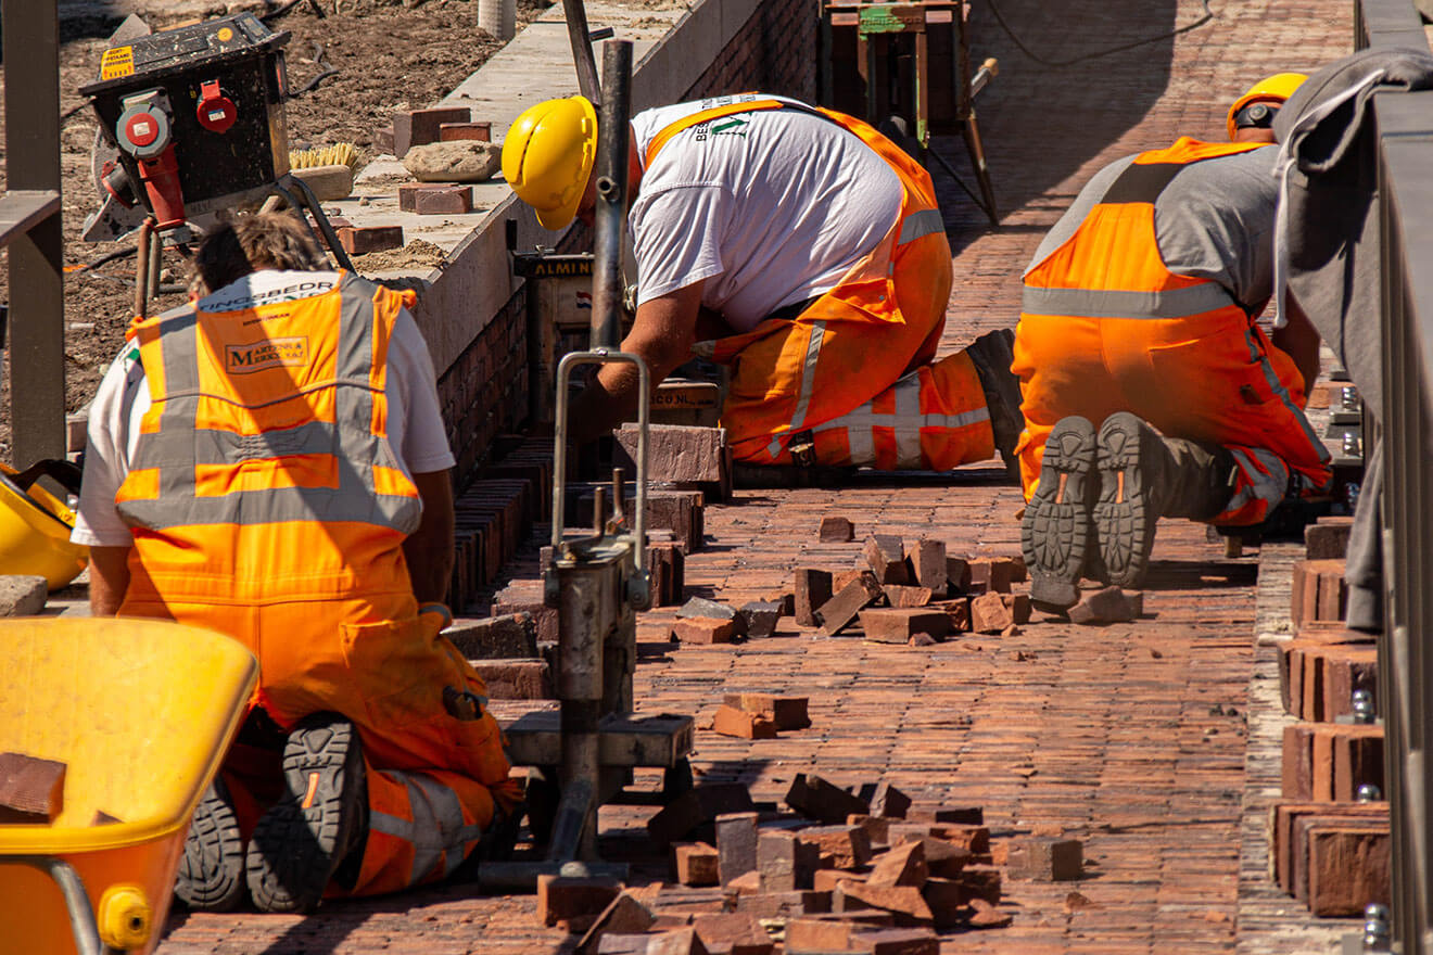
<path fill-rule="evenodd" d="M 245 301 L 294 301 L 321 295 L 338 279 L 337 272 L 254 272 L 199 299 L 199 308 L 226 311 Z M 400 309 L 388 341 L 384 394 L 388 398 L 388 444 L 408 477 L 453 467 L 453 451 L 438 409 L 433 358 L 408 309 Z M 76 544 L 128 547 L 133 543 L 129 525 L 115 508 L 115 494 L 129 474 L 140 420 L 149 404 L 139 345 L 126 342 L 90 404 L 85 485 L 70 534 Z"/>

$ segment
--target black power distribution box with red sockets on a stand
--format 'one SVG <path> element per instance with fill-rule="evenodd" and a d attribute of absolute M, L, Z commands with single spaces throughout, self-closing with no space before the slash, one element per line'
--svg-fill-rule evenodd
<path fill-rule="evenodd" d="M 159 33 L 130 17 L 100 59 L 99 82 L 80 87 L 99 117 L 92 169 L 103 200 L 83 236 L 138 231 L 136 315 L 158 289 L 165 233 L 203 229 L 216 213 L 268 196 L 307 209 L 338 263 L 353 269 L 318 199 L 289 175 L 288 39 L 252 13 Z"/>

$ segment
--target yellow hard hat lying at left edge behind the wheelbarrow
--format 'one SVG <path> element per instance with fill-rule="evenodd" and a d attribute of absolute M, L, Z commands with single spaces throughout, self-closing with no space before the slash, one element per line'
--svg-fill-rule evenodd
<path fill-rule="evenodd" d="M 70 543 L 75 511 L 39 484 L 17 484 L 14 474 L 0 464 L 0 574 L 36 574 L 59 590 L 85 570 L 89 548 Z"/>

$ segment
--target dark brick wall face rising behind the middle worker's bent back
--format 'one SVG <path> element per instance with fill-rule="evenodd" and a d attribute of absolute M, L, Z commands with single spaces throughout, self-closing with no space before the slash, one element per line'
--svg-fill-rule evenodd
<path fill-rule="evenodd" d="M 815 102 L 817 0 L 764 0 L 684 99 L 778 93 Z"/>

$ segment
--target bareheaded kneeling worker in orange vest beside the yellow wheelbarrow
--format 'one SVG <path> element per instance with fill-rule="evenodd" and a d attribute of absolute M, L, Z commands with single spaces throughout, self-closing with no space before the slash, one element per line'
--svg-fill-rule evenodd
<path fill-rule="evenodd" d="M 176 895 L 289 912 L 443 878 L 519 793 L 438 636 L 453 455 L 413 294 L 327 271 L 287 213 L 221 225 L 196 268 L 202 296 L 136 322 L 99 387 L 73 534 L 96 617 L 259 660 Z"/>

